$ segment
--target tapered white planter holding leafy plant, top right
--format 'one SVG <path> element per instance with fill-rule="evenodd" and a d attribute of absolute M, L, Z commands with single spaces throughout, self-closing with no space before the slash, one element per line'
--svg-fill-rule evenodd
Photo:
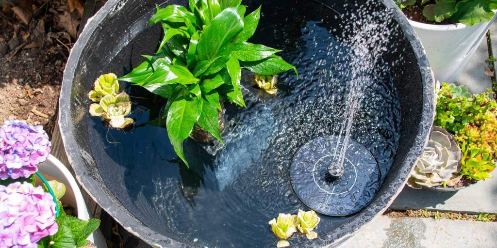
<path fill-rule="evenodd" d="M 410 20 L 426 51 L 435 79 L 454 82 L 475 55 L 478 46 L 495 20 L 473 26 L 424 24 Z"/>

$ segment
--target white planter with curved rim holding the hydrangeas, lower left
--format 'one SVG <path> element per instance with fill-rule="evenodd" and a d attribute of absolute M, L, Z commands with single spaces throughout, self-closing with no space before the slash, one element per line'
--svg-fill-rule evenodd
<path fill-rule="evenodd" d="M 78 218 L 82 220 L 90 219 L 88 207 L 84 202 L 81 190 L 76 183 L 73 175 L 58 159 L 50 155 L 48 159 L 38 165 L 38 170 L 48 180 L 57 180 L 66 185 L 66 194 L 62 197 L 61 201 L 68 203 L 78 211 Z M 41 180 L 37 180 L 37 185 L 41 184 Z M 107 248 L 105 238 L 100 229 L 97 229 L 89 237 L 88 241 L 95 244 L 97 248 Z"/>

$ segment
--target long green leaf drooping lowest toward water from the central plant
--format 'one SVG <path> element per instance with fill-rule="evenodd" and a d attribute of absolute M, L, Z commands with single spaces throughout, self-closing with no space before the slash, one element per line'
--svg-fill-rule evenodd
<path fill-rule="evenodd" d="M 188 162 L 183 153 L 183 141 L 190 136 L 193 126 L 197 123 L 200 113 L 196 98 L 183 93 L 174 99 L 167 111 L 167 135 L 176 154 L 183 160 L 187 167 Z"/>

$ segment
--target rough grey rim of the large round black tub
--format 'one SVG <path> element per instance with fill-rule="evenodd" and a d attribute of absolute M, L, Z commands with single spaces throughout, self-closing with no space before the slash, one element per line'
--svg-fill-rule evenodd
<path fill-rule="evenodd" d="M 103 7 L 86 23 L 81 36 L 73 47 L 69 56 L 66 69 L 64 70 L 64 79 L 59 99 L 59 106 L 71 106 L 71 86 L 73 83 L 76 64 L 80 60 L 82 52 L 86 44 L 98 28 L 98 24 L 107 16 L 111 11 L 119 8 L 120 4 L 125 0 L 108 0 Z M 431 129 L 435 113 L 434 101 L 434 78 L 429 62 L 425 56 L 424 49 L 419 41 L 414 29 L 408 22 L 408 19 L 402 11 L 391 0 L 380 0 L 386 8 L 392 10 L 395 20 L 402 27 L 406 38 L 410 41 L 414 51 L 414 55 L 419 65 L 420 76 L 422 79 L 422 113 L 421 120 L 416 130 L 416 138 L 411 151 L 402 162 L 402 168 L 411 168 L 411 170 L 400 170 L 393 175 L 393 180 L 384 185 L 387 188 L 394 190 L 387 190 L 384 194 L 376 197 L 369 205 L 370 209 L 362 211 L 356 215 L 355 218 L 344 223 L 340 228 L 337 228 L 332 233 L 321 235 L 318 239 L 312 241 L 305 241 L 296 246 L 315 248 L 324 247 L 334 243 L 335 246 L 340 245 L 345 240 L 350 238 L 353 233 L 358 231 L 364 224 L 370 222 L 380 213 L 383 213 L 388 206 L 393 202 L 395 197 L 401 192 L 403 185 L 405 185 L 409 175 L 414 168 L 414 162 L 417 157 L 421 155 L 424 146 L 428 141 L 428 134 Z M 119 224 L 121 224 L 127 231 L 141 238 L 148 244 L 155 247 L 167 246 L 170 248 L 190 248 L 191 246 L 172 240 L 171 238 L 159 234 L 151 228 L 145 226 L 138 219 L 136 219 L 127 209 L 119 204 L 115 197 L 110 197 L 106 192 L 97 185 L 97 183 L 88 175 L 88 171 L 84 167 L 83 155 L 76 144 L 74 133 L 72 132 L 72 120 L 70 115 L 70 108 L 59 109 L 59 126 L 61 128 L 61 136 L 64 142 L 64 147 L 68 155 L 71 166 L 76 173 L 76 179 L 81 186 L 88 192 L 90 197 L 97 202 L 103 210 L 112 216 Z M 385 204 L 387 203 L 387 204 Z M 118 219 L 116 217 L 119 217 Z M 352 230 L 352 231 L 349 231 Z"/>

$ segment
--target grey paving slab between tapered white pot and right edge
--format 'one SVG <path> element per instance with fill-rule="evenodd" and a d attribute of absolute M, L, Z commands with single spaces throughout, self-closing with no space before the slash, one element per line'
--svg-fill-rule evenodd
<path fill-rule="evenodd" d="M 492 26 L 495 27 L 495 25 L 496 23 L 494 22 Z M 487 88 L 492 88 L 492 77 L 485 74 L 486 70 L 490 70 L 488 59 L 488 43 L 487 39 L 483 39 L 476 54 L 464 72 L 456 79 L 455 84 L 466 85 L 471 93 L 487 92 Z"/>

